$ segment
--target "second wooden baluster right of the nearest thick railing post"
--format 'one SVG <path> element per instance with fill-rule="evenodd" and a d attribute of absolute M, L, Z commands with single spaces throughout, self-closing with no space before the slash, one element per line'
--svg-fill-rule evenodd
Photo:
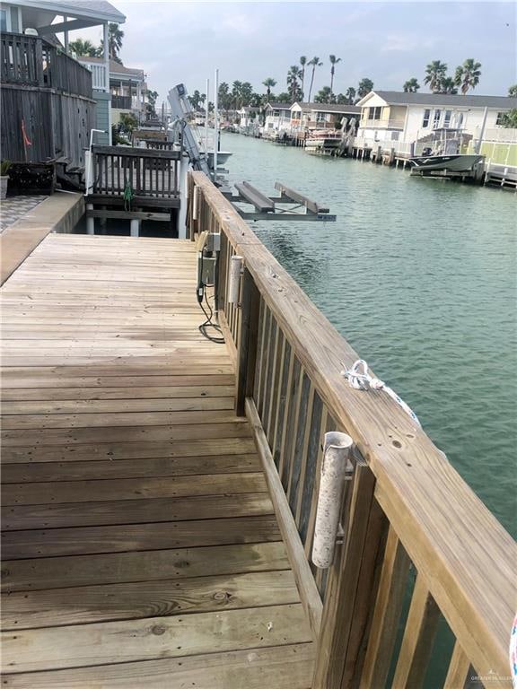
<path fill-rule="evenodd" d="M 440 609 L 423 576 L 418 574 L 393 678 L 393 686 L 397 689 L 419 689 L 422 686 L 439 619 Z"/>

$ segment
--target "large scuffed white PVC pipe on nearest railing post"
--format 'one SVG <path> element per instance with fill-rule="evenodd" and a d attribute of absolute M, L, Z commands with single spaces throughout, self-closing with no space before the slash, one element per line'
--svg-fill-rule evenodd
<path fill-rule="evenodd" d="M 354 441 L 346 433 L 325 433 L 320 493 L 312 544 L 312 562 L 320 569 L 329 568 L 334 559 L 345 481 L 347 475 L 351 476 L 354 469 L 350 461 L 353 444 Z"/>

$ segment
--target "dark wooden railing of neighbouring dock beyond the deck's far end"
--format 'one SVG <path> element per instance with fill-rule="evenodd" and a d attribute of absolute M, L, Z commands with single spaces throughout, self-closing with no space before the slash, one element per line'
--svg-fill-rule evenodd
<path fill-rule="evenodd" d="M 93 146 L 93 194 L 160 198 L 163 205 L 179 196 L 180 153 L 127 146 Z"/>

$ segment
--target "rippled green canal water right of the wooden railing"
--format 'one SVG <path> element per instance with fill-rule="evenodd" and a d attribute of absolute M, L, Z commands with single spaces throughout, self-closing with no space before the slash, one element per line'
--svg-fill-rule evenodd
<path fill-rule="evenodd" d="M 517 536 L 515 195 L 223 135 L 231 181 L 337 222 L 253 229 Z"/>

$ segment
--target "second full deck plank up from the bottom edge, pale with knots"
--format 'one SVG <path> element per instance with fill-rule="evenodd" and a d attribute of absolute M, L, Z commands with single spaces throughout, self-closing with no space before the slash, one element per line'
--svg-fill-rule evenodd
<path fill-rule="evenodd" d="M 95 666 L 311 641 L 300 604 L 2 634 L 4 671 Z"/>

